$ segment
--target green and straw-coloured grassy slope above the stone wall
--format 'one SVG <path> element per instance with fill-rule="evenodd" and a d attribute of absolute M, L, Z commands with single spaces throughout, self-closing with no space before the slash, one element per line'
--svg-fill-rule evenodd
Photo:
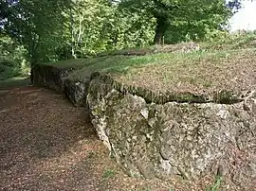
<path fill-rule="evenodd" d="M 255 35 L 232 36 L 224 42 L 202 43 L 201 47 L 203 50 L 191 53 L 137 57 L 116 54 L 55 64 L 77 67 L 78 70 L 69 78 L 84 80 L 93 72 L 101 72 L 127 85 L 154 92 L 208 93 L 224 89 L 235 92 L 256 89 Z"/>

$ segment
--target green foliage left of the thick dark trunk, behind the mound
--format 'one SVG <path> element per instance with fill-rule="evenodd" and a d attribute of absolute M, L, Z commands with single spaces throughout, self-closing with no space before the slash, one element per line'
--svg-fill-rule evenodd
<path fill-rule="evenodd" d="M 7 4 L 2 18 L 5 35 L 27 49 L 30 63 L 144 46 L 154 35 L 154 20 L 120 10 L 108 0 L 20 0 Z"/>

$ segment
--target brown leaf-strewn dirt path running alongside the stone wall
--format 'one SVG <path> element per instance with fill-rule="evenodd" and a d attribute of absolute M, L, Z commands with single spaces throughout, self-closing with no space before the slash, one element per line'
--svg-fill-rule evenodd
<path fill-rule="evenodd" d="M 0 90 L 0 190 L 200 190 L 182 185 L 127 177 L 85 109 L 64 96 L 35 87 Z"/>

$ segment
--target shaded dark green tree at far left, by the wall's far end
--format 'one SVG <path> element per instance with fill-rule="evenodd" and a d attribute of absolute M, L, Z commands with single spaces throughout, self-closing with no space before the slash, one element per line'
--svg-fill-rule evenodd
<path fill-rule="evenodd" d="M 62 40 L 64 9 L 68 0 L 2 0 L 0 3 L 2 33 L 24 45 L 27 60 L 33 65 L 49 61 Z"/>

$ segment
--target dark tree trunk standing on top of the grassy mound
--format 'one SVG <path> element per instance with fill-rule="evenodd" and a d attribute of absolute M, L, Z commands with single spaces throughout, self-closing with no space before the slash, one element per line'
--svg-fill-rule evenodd
<path fill-rule="evenodd" d="M 165 17 L 156 17 L 155 26 L 155 44 L 164 44 L 164 33 L 167 29 L 167 19 Z"/>

